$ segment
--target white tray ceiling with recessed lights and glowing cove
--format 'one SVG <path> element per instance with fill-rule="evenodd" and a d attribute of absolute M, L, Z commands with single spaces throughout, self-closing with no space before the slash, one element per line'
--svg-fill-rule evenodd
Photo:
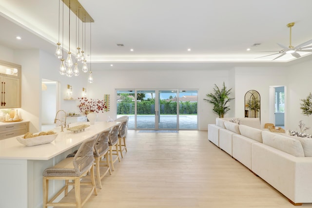
<path fill-rule="evenodd" d="M 276 43 L 289 46 L 286 25 L 290 22 L 295 22 L 293 46 L 312 39 L 312 0 L 79 2 L 95 20 L 91 23 L 92 62 L 289 62 L 296 58 L 287 54 L 272 61 L 278 55 L 261 56 L 274 53 L 265 51 L 280 51 Z M 64 14 L 63 45 L 68 49 L 66 6 Z M 75 17 L 72 14 L 72 52 L 76 47 Z M 14 49 L 41 48 L 54 53 L 59 36 L 59 0 L 1 0 L 0 26 L 0 45 Z M 86 23 L 85 28 L 85 51 L 89 55 L 90 23 Z M 16 36 L 22 39 L 17 40 Z M 124 47 L 117 47 L 118 43 Z M 252 47 L 254 43 L 261 45 Z M 79 45 L 81 47 L 81 40 Z M 187 51 L 188 48 L 191 51 Z"/>

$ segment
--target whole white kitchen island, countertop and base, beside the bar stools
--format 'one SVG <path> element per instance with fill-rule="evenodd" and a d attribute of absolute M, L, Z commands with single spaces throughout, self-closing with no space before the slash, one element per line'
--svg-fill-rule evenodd
<path fill-rule="evenodd" d="M 42 208 L 42 173 L 78 150 L 80 144 L 103 130 L 120 122 L 96 122 L 82 132 L 70 132 L 60 128 L 48 144 L 27 147 L 16 137 L 0 140 L 0 208 Z M 51 197 L 63 186 L 63 182 L 50 183 Z"/>

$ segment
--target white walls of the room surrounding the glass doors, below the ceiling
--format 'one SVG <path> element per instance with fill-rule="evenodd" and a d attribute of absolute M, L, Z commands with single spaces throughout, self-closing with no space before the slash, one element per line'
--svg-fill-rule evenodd
<path fill-rule="evenodd" d="M 5 52 L 8 51 L 8 54 Z M 206 94 L 212 92 L 214 84 L 221 86 L 223 82 L 233 88 L 234 101 L 230 103 L 231 111 L 226 117 L 244 116 L 244 95 L 249 90 L 256 90 L 261 96 L 261 123 L 269 119 L 270 86 L 286 86 L 285 127 L 296 129 L 303 120 L 312 127 L 312 118 L 301 114 L 300 99 L 311 92 L 312 61 L 296 63 L 288 67 L 223 67 L 214 68 L 205 64 L 176 63 L 145 64 L 144 69 L 105 69 L 103 64 L 92 64 L 94 83 L 87 82 L 88 73 L 80 72 L 80 76 L 68 78 L 58 73 L 59 59 L 40 50 L 7 49 L 0 46 L 0 54 L 6 54 L 6 61 L 22 66 L 22 109 L 24 119 L 31 121 L 30 131 L 38 132 L 41 125 L 41 79 L 46 78 L 59 83 L 58 109 L 67 113 L 78 112 L 78 101 L 66 101 L 67 84 L 72 85 L 74 97 L 80 97 L 82 87 L 87 88 L 88 97 L 102 98 L 111 95 L 111 111 L 100 113 L 98 120 L 106 121 L 108 116 L 115 118 L 116 89 L 187 89 L 198 90 L 199 129 L 207 130 L 208 123 L 215 123 L 212 105 L 203 101 Z M 127 64 L 131 65 L 131 63 Z M 159 66 L 159 68 L 156 68 Z M 204 67 L 203 67 L 204 66 Z M 311 131 L 310 131 L 311 132 Z"/>

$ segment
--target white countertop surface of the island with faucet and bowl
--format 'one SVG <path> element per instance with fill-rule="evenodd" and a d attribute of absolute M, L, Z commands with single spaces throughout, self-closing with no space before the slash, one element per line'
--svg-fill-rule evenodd
<path fill-rule="evenodd" d="M 96 122 L 82 132 L 71 132 L 66 129 L 60 132 L 58 127 L 53 129 L 58 133 L 53 142 L 31 147 L 21 144 L 16 137 L 3 139 L 0 140 L 0 159 L 49 160 L 118 123 L 120 122 Z"/>

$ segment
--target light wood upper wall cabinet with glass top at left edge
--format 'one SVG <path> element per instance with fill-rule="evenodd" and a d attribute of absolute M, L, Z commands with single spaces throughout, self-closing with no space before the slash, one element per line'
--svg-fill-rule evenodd
<path fill-rule="evenodd" d="M 0 60 L 0 109 L 21 107 L 21 66 Z"/>

